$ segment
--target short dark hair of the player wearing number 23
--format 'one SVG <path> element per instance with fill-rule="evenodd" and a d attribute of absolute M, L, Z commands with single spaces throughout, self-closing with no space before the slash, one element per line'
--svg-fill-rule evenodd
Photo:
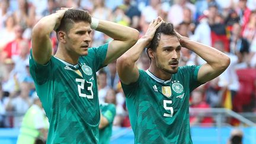
<path fill-rule="evenodd" d="M 57 28 L 56 32 L 65 31 L 66 33 L 68 33 L 72 24 L 81 21 L 85 21 L 91 24 L 91 15 L 88 11 L 84 11 L 81 9 L 68 9 L 65 12 L 62 20 L 60 21 L 60 25 Z"/>

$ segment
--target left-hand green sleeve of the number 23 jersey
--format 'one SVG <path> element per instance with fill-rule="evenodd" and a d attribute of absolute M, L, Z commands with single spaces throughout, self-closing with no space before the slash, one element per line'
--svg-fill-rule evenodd
<path fill-rule="evenodd" d="M 43 85 L 52 73 L 52 57 L 46 65 L 41 65 L 34 60 L 32 49 L 30 50 L 30 74 L 37 85 Z"/>

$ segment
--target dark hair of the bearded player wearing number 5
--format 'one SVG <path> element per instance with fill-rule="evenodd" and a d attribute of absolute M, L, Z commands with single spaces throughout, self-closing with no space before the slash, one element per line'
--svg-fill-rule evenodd
<path fill-rule="evenodd" d="M 167 34 L 171 36 L 177 36 L 174 31 L 174 26 L 171 23 L 162 23 L 155 32 L 155 36 L 153 37 L 151 44 L 149 45 L 149 49 L 152 49 L 154 52 L 156 51 L 156 47 L 158 47 L 159 41 L 161 40 L 161 34 Z"/>

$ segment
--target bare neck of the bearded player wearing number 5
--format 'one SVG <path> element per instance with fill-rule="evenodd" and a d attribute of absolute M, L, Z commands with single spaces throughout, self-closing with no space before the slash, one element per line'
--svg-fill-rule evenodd
<path fill-rule="evenodd" d="M 164 81 L 168 81 L 169 79 L 171 79 L 171 76 L 172 76 L 171 73 L 165 72 L 162 69 L 157 68 L 156 65 L 153 65 L 152 63 L 149 66 L 148 70 L 157 78 L 162 79 Z"/>

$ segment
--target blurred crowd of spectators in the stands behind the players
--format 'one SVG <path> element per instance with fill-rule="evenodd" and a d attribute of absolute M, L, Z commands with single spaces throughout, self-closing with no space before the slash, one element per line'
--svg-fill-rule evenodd
<path fill-rule="evenodd" d="M 213 46 L 231 57 L 231 65 L 216 79 L 191 93 L 191 107 L 225 107 L 236 112 L 256 113 L 256 1 L 255 0 L 0 0 L 0 127 L 20 127 L 36 95 L 28 68 L 31 31 L 40 18 L 61 7 L 85 9 L 92 17 L 127 25 L 143 36 L 156 17 L 174 24 L 191 40 Z M 91 47 L 111 39 L 91 33 Z M 53 54 L 57 49 L 52 33 Z M 180 66 L 201 65 L 204 60 L 181 49 Z M 148 69 L 146 53 L 137 65 Z M 116 62 L 98 71 L 101 102 L 116 105 L 114 126 L 129 127 L 123 90 Z M 191 117 L 191 124 L 214 119 Z"/>

